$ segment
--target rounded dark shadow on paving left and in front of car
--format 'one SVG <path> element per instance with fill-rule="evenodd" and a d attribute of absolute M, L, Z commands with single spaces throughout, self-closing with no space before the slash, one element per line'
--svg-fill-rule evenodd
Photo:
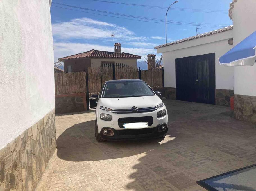
<path fill-rule="evenodd" d="M 163 138 L 98 143 L 94 120 L 75 124 L 57 138 L 57 156 L 65 161 L 99 161 L 130 157 L 160 146 Z"/>

